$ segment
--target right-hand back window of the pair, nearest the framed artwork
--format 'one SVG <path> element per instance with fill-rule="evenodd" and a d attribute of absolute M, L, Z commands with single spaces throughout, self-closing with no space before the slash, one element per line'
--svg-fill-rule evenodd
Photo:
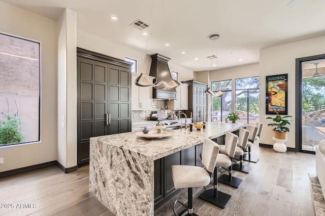
<path fill-rule="evenodd" d="M 238 122 L 259 122 L 259 76 L 236 79 L 235 85 L 236 113 L 240 117 Z"/>

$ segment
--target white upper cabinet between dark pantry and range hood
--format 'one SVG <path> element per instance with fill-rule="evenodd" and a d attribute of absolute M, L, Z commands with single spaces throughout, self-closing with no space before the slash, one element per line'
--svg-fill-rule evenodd
<path fill-rule="evenodd" d="M 134 82 L 140 76 L 132 73 L 132 110 L 151 110 L 152 109 L 152 87 L 139 87 Z M 143 75 L 146 76 L 146 75 Z M 146 76 L 151 81 L 152 76 Z"/>

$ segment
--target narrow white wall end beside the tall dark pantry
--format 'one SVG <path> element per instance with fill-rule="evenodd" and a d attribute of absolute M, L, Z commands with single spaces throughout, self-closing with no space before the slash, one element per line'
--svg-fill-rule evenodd
<path fill-rule="evenodd" d="M 64 10 L 57 21 L 57 31 L 57 161 L 64 167 L 69 168 L 77 165 L 76 13 L 69 9 Z M 62 124 L 64 124 L 64 127 L 62 127 Z"/>

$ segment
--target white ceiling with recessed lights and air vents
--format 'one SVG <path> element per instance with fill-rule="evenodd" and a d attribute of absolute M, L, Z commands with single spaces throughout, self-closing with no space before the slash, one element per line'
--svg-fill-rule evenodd
<path fill-rule="evenodd" d="M 55 20 L 69 8 L 77 13 L 78 29 L 149 55 L 165 55 L 193 71 L 256 63 L 263 48 L 325 35 L 324 0 L 295 0 L 291 7 L 291 0 L 2 1 Z M 112 15 L 118 21 L 111 21 Z M 130 26 L 138 19 L 150 27 Z M 144 31 L 150 35 L 141 35 Z M 211 34 L 220 38 L 212 41 Z M 217 60 L 207 59 L 210 55 Z"/>

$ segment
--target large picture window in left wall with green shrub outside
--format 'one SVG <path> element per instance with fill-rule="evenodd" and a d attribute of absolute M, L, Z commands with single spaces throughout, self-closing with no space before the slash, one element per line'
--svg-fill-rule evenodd
<path fill-rule="evenodd" d="M 40 141 L 40 43 L 0 33 L 0 146 Z"/>

